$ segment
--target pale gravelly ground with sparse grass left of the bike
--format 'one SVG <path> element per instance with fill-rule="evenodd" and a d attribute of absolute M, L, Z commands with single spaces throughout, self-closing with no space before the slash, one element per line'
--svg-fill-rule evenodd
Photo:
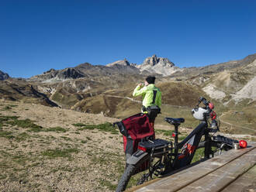
<path fill-rule="evenodd" d="M 112 191 L 123 172 L 123 139 L 74 123 L 101 124 L 118 119 L 43 105 L 1 102 L 2 117 L 19 116 L 43 127 L 2 125 L 0 191 Z M 43 131 L 59 127 L 61 131 Z M 0 132 L 0 133 L 1 133 Z"/>

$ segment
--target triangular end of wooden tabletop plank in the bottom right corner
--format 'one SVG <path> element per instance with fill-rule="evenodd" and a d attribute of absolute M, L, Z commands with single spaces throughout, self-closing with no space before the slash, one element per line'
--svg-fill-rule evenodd
<path fill-rule="evenodd" d="M 244 173 L 233 183 L 230 183 L 222 192 L 230 191 L 251 191 L 256 192 L 256 166 L 253 166 L 250 170 Z"/>

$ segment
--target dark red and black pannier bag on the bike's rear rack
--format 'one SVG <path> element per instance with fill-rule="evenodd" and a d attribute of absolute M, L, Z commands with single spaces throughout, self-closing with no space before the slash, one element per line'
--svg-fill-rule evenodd
<path fill-rule="evenodd" d="M 123 149 L 126 153 L 126 158 L 137 151 L 141 139 L 150 136 L 154 138 L 154 128 L 150 125 L 146 114 L 138 113 L 115 124 L 123 134 Z M 149 162 L 143 163 L 136 173 L 147 170 L 148 164 Z"/>

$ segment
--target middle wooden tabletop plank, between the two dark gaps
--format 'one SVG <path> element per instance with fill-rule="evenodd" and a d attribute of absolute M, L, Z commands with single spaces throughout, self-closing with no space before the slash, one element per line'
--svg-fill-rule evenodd
<path fill-rule="evenodd" d="M 250 170 L 256 163 L 256 149 L 240 156 L 234 161 L 206 175 L 206 177 L 196 180 L 189 186 L 178 190 L 178 192 L 198 192 L 211 191 L 217 192 L 234 182 L 238 177 Z"/>

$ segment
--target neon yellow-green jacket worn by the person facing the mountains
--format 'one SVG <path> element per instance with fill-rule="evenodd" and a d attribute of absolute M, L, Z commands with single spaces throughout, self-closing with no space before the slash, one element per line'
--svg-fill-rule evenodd
<path fill-rule="evenodd" d="M 154 92 L 156 93 L 155 99 Z M 142 95 L 142 105 L 145 108 L 152 105 L 157 105 L 159 108 L 161 108 L 161 91 L 157 87 L 155 87 L 154 84 L 149 84 L 144 87 L 140 87 L 138 85 L 133 91 L 133 97 L 137 97 L 139 95 Z"/>

